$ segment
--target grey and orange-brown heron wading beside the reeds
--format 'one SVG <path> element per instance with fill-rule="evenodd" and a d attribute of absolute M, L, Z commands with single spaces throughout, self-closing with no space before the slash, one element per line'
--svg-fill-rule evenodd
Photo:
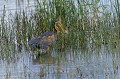
<path fill-rule="evenodd" d="M 65 29 L 61 23 L 61 17 L 54 24 L 55 32 L 45 32 L 37 37 L 33 37 L 29 41 L 30 47 L 41 48 L 49 53 L 50 45 L 57 40 L 57 34 L 64 33 Z"/>

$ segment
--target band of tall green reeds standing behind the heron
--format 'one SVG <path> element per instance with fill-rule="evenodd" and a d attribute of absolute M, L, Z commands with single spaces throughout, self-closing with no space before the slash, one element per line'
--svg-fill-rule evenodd
<path fill-rule="evenodd" d="M 56 18 L 61 16 L 68 34 L 59 35 L 58 48 L 86 49 L 102 44 L 117 45 L 119 41 L 120 9 L 115 0 L 115 12 L 107 10 L 100 0 L 36 0 L 35 11 L 16 11 L 12 18 L 6 17 L 5 8 L 0 24 L 1 51 L 14 52 L 28 48 L 28 41 L 43 32 L 54 31 Z M 112 2 L 112 1 L 111 1 Z M 111 4 L 112 5 L 112 4 Z M 110 8 L 111 9 L 111 8 Z M 113 15 L 112 15 L 113 14 Z M 8 17 L 6 17 L 8 18 Z M 12 46 L 12 47 L 11 47 Z M 2 49 L 3 48 L 3 49 Z M 5 51 L 6 50 L 6 51 Z"/>

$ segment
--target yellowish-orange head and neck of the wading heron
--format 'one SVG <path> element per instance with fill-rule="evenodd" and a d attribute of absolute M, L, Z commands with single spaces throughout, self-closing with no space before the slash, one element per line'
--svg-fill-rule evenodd
<path fill-rule="evenodd" d="M 63 24 L 61 23 L 61 17 L 58 18 L 58 20 L 55 22 L 55 29 L 57 32 L 64 33 L 65 28 L 63 27 Z"/>

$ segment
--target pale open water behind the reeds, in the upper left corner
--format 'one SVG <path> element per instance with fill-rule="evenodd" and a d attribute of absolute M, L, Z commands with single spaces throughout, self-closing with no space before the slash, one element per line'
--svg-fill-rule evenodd
<path fill-rule="evenodd" d="M 10 14 L 15 15 L 16 11 L 26 11 L 29 14 L 31 11 L 35 10 L 34 0 L 0 0 L 0 17 L 3 15 L 3 10 L 5 9 L 5 18 L 8 18 Z M 7 20 L 7 19 L 6 19 Z"/>

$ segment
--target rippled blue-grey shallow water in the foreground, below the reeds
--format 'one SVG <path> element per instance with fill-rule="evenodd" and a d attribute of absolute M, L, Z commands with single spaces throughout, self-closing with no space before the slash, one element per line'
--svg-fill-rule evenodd
<path fill-rule="evenodd" d="M 41 56 L 24 51 L 13 59 L 1 59 L 0 79 L 119 79 L 116 50 L 102 46 L 95 51 L 70 49 Z"/>

